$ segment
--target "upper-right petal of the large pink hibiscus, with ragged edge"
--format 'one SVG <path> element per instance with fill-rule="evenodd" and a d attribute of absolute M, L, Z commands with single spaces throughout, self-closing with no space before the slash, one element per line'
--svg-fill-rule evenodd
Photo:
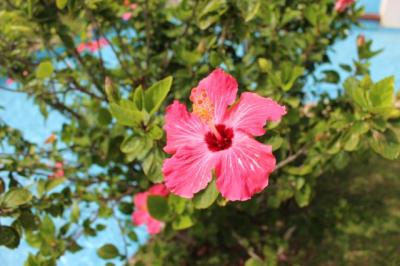
<path fill-rule="evenodd" d="M 285 114 L 285 106 L 274 100 L 244 92 L 239 103 L 230 111 L 225 124 L 247 134 L 261 136 L 265 134 L 264 126 L 267 121 L 278 121 Z"/>

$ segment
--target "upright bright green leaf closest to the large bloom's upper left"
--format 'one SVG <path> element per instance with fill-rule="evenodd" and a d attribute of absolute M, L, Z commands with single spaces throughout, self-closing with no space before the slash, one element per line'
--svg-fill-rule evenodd
<path fill-rule="evenodd" d="M 158 111 L 168 95 L 172 85 L 172 77 L 169 76 L 151 86 L 144 92 L 144 105 L 150 115 Z"/>

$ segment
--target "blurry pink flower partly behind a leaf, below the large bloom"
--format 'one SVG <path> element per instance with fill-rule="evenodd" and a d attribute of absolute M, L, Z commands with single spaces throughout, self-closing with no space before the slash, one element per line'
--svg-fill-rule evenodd
<path fill-rule="evenodd" d="M 149 234 L 158 234 L 164 226 L 164 223 L 151 217 L 147 209 L 147 197 L 149 195 L 166 197 L 168 194 L 169 191 L 163 184 L 156 184 L 148 191 L 136 194 L 133 198 L 133 203 L 135 204 L 135 211 L 132 213 L 133 223 L 135 225 L 145 224 Z"/>

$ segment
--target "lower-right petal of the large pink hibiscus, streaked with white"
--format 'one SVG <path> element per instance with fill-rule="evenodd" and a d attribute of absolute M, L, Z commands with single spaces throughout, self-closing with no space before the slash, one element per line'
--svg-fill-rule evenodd
<path fill-rule="evenodd" d="M 245 134 L 236 134 L 232 147 L 221 155 L 216 165 L 217 188 L 226 199 L 248 200 L 268 185 L 275 168 L 271 146 Z"/>

